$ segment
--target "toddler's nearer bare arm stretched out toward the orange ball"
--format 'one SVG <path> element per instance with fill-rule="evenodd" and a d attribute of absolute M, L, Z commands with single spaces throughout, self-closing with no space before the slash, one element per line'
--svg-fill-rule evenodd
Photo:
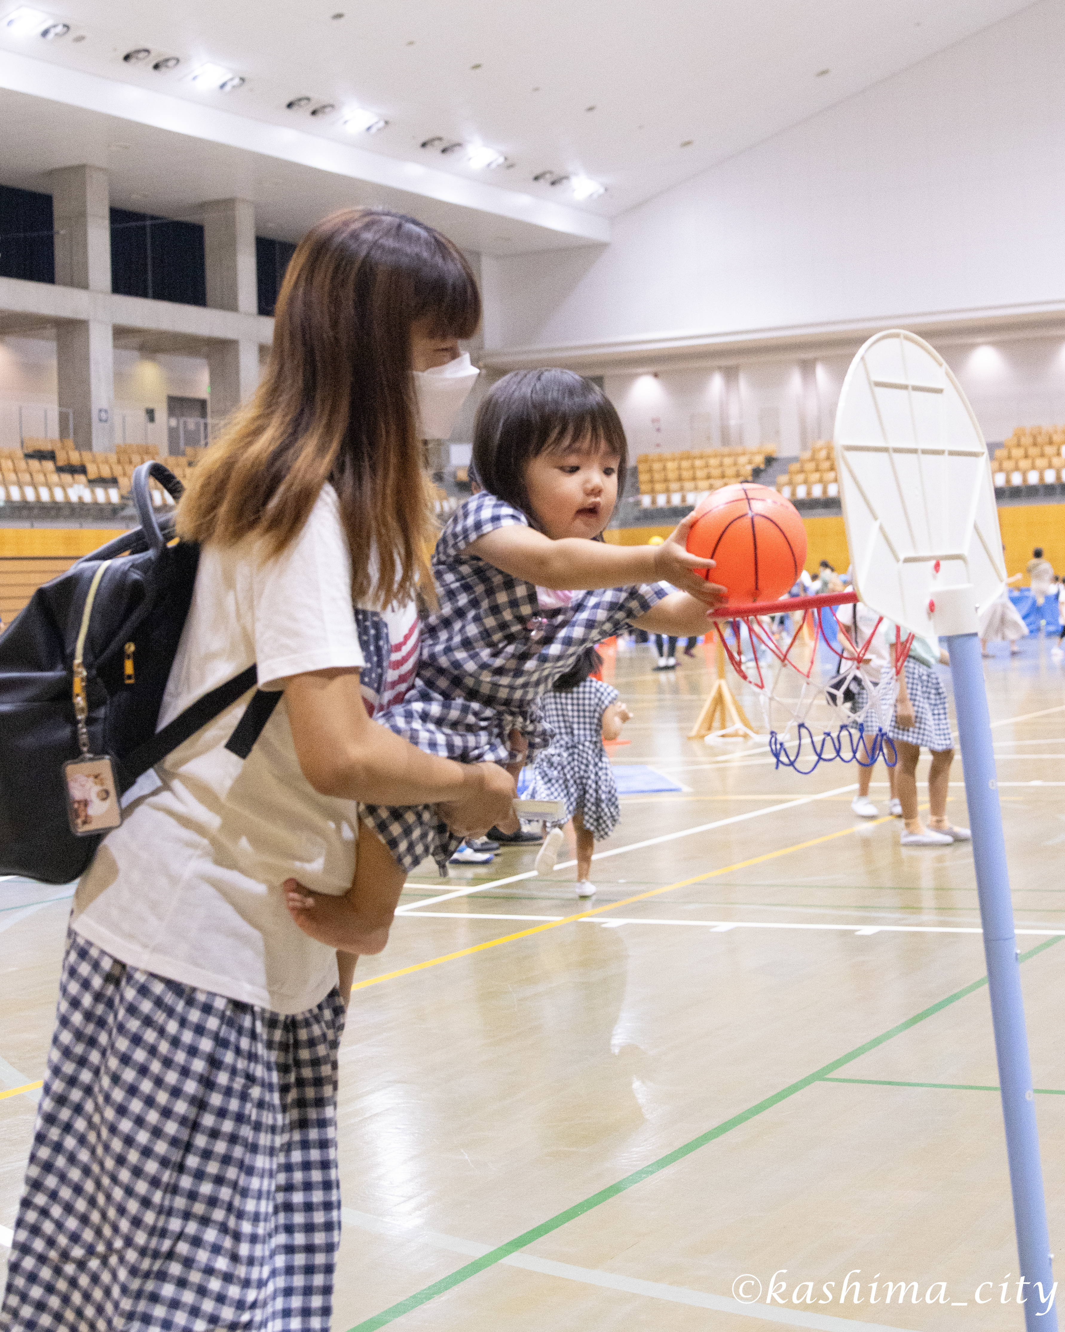
<path fill-rule="evenodd" d="M 660 546 L 608 546 L 604 541 L 564 537 L 551 541 L 532 527 L 497 527 L 478 537 L 467 549 L 505 574 L 525 578 L 538 587 L 586 591 L 624 587 L 628 583 L 668 582 L 698 601 L 716 606 L 724 589 L 696 577 L 696 569 L 712 569 L 712 559 L 690 555 L 684 549 L 694 514 L 682 519 Z"/>

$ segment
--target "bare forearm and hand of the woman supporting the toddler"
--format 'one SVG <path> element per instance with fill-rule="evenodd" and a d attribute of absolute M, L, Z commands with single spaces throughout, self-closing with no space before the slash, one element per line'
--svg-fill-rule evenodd
<path fill-rule="evenodd" d="M 366 715 L 357 670 L 323 670 L 285 682 L 304 777 L 320 795 L 371 805 L 438 805 L 457 832 L 506 829 L 514 779 L 495 763 L 423 754 Z"/>

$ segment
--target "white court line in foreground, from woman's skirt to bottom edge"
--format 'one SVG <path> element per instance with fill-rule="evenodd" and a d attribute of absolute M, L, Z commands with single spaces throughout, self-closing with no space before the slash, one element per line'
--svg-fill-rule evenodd
<path fill-rule="evenodd" d="M 491 1253 L 490 1244 L 475 1240 L 462 1240 L 455 1235 L 442 1235 L 439 1231 L 422 1229 L 417 1223 L 386 1221 L 366 1212 L 355 1212 L 350 1207 L 341 1208 L 345 1225 L 390 1239 L 415 1240 L 431 1248 L 447 1249 L 466 1257 L 483 1257 Z M 509 1253 L 499 1261 L 501 1267 L 519 1267 L 526 1272 L 539 1272 L 542 1276 L 558 1276 L 567 1281 L 580 1281 L 583 1285 L 599 1285 L 607 1291 L 626 1291 L 628 1295 L 643 1295 L 651 1300 L 666 1300 L 670 1304 L 688 1304 L 698 1309 L 715 1309 L 718 1313 L 735 1313 L 763 1323 L 781 1323 L 788 1327 L 809 1328 L 811 1332 L 900 1332 L 884 1323 L 859 1323 L 855 1319 L 833 1319 L 827 1313 L 805 1313 L 803 1309 L 789 1309 L 767 1304 L 742 1304 L 724 1295 L 707 1295 L 704 1291 L 690 1291 L 683 1285 L 666 1285 L 662 1281 L 642 1281 L 620 1272 L 602 1272 L 592 1267 L 574 1267 L 572 1263 L 556 1263 L 554 1259 L 534 1257 L 531 1253 Z"/>

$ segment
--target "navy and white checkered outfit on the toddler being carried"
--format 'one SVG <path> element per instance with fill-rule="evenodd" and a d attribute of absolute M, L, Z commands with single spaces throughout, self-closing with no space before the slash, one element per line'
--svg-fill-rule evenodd
<path fill-rule="evenodd" d="M 418 678 L 402 703 L 377 715 L 418 749 L 463 763 L 506 763 L 509 735 L 529 741 L 529 759 L 550 730 L 540 698 L 586 647 L 616 634 L 670 594 L 664 583 L 575 591 L 568 606 L 542 609 L 532 583 L 469 553 L 479 537 L 529 519 L 481 492 L 453 514 L 433 555 L 439 610 L 422 625 Z M 413 870 L 427 855 L 443 868 L 458 844 L 431 806 L 367 805 L 365 818 L 393 859 Z"/>

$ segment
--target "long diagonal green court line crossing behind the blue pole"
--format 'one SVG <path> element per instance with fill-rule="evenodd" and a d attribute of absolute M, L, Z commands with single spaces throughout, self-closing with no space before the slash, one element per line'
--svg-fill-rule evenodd
<path fill-rule="evenodd" d="M 1058 936 L 1056 939 L 1048 939 L 1045 943 L 1038 943 L 1028 952 L 1022 952 L 1018 962 L 1028 962 L 1029 958 L 1034 958 L 1036 954 L 1044 952 L 1046 948 L 1052 948 L 1056 943 L 1061 942 L 1062 939 Z M 651 1179 L 654 1175 L 658 1175 L 660 1171 L 676 1164 L 676 1162 L 683 1160 L 686 1156 L 691 1156 L 691 1154 L 698 1152 L 700 1147 L 706 1147 L 708 1143 L 723 1138 L 726 1134 L 731 1132 L 731 1130 L 739 1128 L 740 1124 L 746 1124 L 748 1120 L 755 1119 L 767 1110 L 772 1110 L 775 1106 L 788 1100 L 797 1092 L 805 1091 L 807 1087 L 812 1087 L 817 1082 L 825 1082 L 828 1075 L 833 1074 L 837 1068 L 843 1068 L 845 1064 L 853 1063 L 855 1059 L 868 1055 L 869 1051 L 883 1046 L 893 1036 L 899 1036 L 904 1031 L 909 1031 L 909 1028 L 916 1027 L 917 1023 L 925 1022 L 928 1018 L 933 1018 L 937 1012 L 941 1012 L 951 1004 L 957 1003 L 960 999 L 965 999 L 968 995 L 974 994 L 974 991 L 982 990 L 986 983 L 988 978 L 981 976 L 978 980 L 973 980 L 961 990 L 956 990 L 952 995 L 948 995 L 945 999 L 940 999 L 931 1007 L 924 1008 L 913 1018 L 907 1018 L 905 1022 L 900 1022 L 896 1027 L 892 1027 L 891 1031 L 885 1031 L 880 1036 L 873 1036 L 872 1040 L 867 1040 L 863 1046 L 857 1046 L 845 1055 L 840 1055 L 831 1063 L 824 1064 L 824 1067 L 819 1068 L 816 1072 L 807 1074 L 805 1078 L 800 1078 L 797 1082 L 791 1083 L 791 1086 L 784 1087 L 781 1091 L 773 1092 L 772 1096 L 767 1096 L 764 1100 L 757 1102 L 757 1104 L 751 1106 L 748 1110 L 740 1111 L 739 1115 L 726 1119 L 723 1123 L 707 1130 L 706 1134 L 692 1138 L 690 1143 L 676 1147 L 674 1151 L 667 1152 L 666 1156 L 659 1156 L 658 1160 L 640 1167 L 640 1169 L 634 1171 L 631 1175 L 626 1175 L 626 1177 L 618 1180 L 616 1184 L 610 1184 L 607 1188 L 599 1189 L 599 1192 L 592 1193 L 591 1197 L 586 1197 L 583 1201 L 575 1203 L 572 1207 L 567 1207 L 564 1212 L 559 1212 L 547 1221 L 540 1221 L 539 1225 L 534 1225 L 532 1229 L 525 1231 L 513 1240 L 507 1240 L 506 1244 L 499 1244 L 497 1248 L 490 1249 L 481 1257 L 474 1259 L 473 1263 L 466 1263 L 463 1267 L 457 1268 L 447 1276 L 441 1277 L 439 1281 L 433 1281 L 431 1285 L 426 1285 L 414 1295 L 409 1295 L 405 1300 L 399 1300 L 398 1304 L 393 1304 L 390 1308 L 382 1309 L 381 1313 L 374 1313 L 373 1317 L 355 1324 L 355 1327 L 350 1328 L 349 1332 L 375 1332 L 377 1328 L 383 1328 L 389 1323 L 394 1323 L 405 1313 L 411 1313 L 414 1309 L 418 1309 L 430 1300 L 434 1300 L 438 1295 L 443 1295 L 446 1291 L 461 1285 L 463 1281 L 469 1281 L 471 1276 L 477 1276 L 489 1267 L 495 1267 L 497 1263 L 502 1263 L 503 1259 L 510 1257 L 511 1253 L 517 1253 L 519 1249 L 534 1244 L 536 1240 L 542 1240 L 546 1235 L 550 1235 L 552 1231 L 559 1229 L 570 1221 L 575 1221 L 579 1216 L 583 1216 L 592 1208 L 602 1207 L 603 1203 L 608 1203 L 611 1199 L 618 1197 L 619 1193 L 624 1193 L 627 1189 L 635 1188 L 636 1184 L 642 1184 L 646 1179 Z"/>

